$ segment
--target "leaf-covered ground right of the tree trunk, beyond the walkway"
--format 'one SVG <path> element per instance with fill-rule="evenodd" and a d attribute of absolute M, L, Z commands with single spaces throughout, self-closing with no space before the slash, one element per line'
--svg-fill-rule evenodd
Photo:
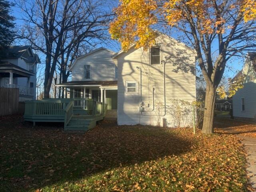
<path fill-rule="evenodd" d="M 255 122 L 240 122 L 228 118 L 217 118 L 215 132 L 256 138 Z"/>

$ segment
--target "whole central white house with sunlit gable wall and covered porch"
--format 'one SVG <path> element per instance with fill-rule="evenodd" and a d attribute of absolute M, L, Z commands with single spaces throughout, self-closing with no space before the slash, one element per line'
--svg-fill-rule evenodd
<path fill-rule="evenodd" d="M 116 117 L 119 125 L 162 125 L 164 119 L 167 126 L 177 126 L 173 99 L 196 100 L 196 53 L 157 33 L 155 46 L 145 51 L 99 48 L 80 56 L 70 67 L 72 81 L 57 86 L 70 92 L 70 98 L 107 103 L 107 117 Z M 191 115 L 184 121 L 189 124 Z"/>

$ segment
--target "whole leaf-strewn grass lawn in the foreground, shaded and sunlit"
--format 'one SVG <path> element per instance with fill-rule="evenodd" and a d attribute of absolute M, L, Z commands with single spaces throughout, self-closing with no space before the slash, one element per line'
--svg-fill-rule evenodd
<path fill-rule="evenodd" d="M 85 134 L 0 120 L 0 191 L 246 191 L 245 154 L 233 135 L 116 126 Z"/>

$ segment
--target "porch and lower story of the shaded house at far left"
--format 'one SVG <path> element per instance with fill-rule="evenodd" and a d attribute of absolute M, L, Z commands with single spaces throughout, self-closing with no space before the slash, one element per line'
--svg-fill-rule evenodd
<path fill-rule="evenodd" d="M 7 61 L 0 62 L 0 86 L 18 88 L 20 97 L 33 99 L 34 82 L 30 82 L 31 76 L 35 76 L 34 71 L 26 70 Z M 18 85 L 18 78 L 26 79 L 28 86 Z"/>

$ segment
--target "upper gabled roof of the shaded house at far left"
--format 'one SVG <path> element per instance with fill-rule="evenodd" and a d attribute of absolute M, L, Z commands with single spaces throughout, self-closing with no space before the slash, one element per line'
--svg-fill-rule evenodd
<path fill-rule="evenodd" d="M 18 45 L 18 46 L 0 46 L 0 59 L 1 58 L 21 58 L 23 54 L 30 50 L 31 56 L 26 56 L 27 62 L 40 63 L 40 59 L 37 54 L 34 54 L 30 45 Z"/>

